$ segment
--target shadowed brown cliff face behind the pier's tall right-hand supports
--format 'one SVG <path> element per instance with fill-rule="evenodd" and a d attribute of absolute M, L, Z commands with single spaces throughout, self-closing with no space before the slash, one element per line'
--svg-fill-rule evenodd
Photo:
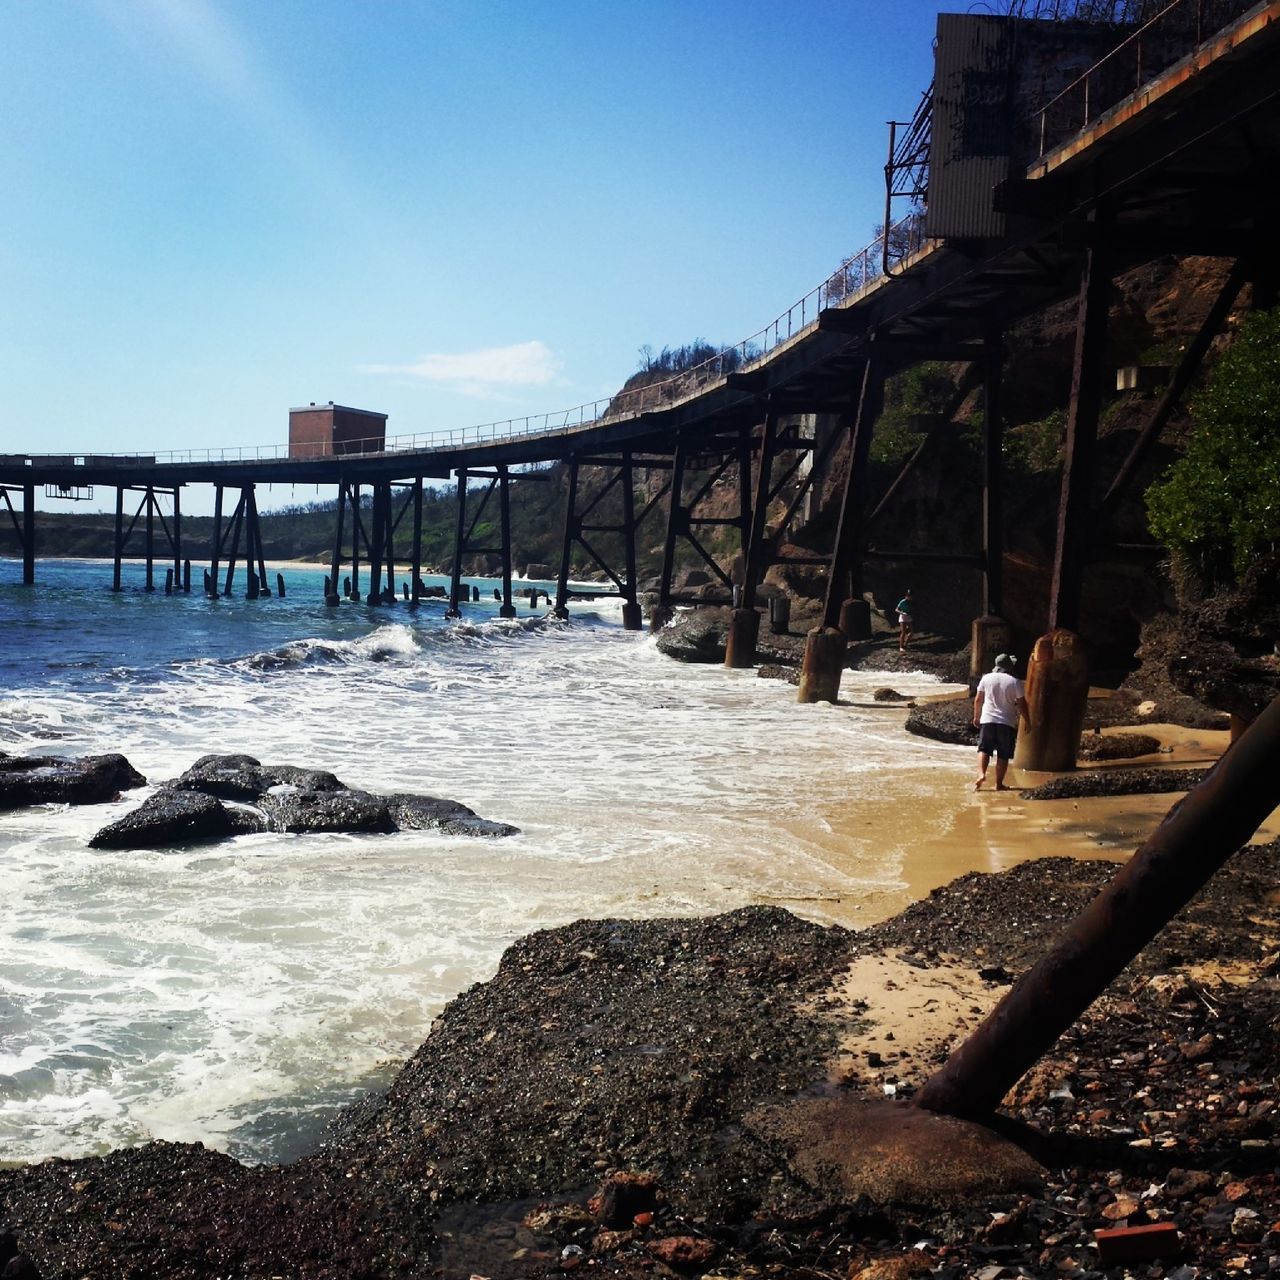
<path fill-rule="evenodd" d="M 1164 259 L 1116 280 L 1108 328 L 1108 364 L 1138 366 L 1151 389 L 1107 394 L 1093 479 L 1101 499 L 1152 412 L 1181 351 L 1198 330 L 1217 296 L 1228 264 L 1217 259 Z M 1248 297 L 1242 300 L 1247 310 Z M 1230 342 L 1238 316 L 1215 342 L 1210 358 Z M 1025 652 L 1046 626 L 1050 575 L 1057 527 L 1062 447 L 1070 399 L 1075 343 L 1075 305 L 1064 302 L 1030 316 L 1006 335 L 1005 404 L 1005 600 L 1004 612 L 1015 644 Z M 959 387 L 964 365 L 946 366 Z M 910 408 L 910 406 L 908 406 Z M 910 415 L 908 415 L 910 417 Z M 977 552 L 982 518 L 982 394 L 968 394 L 948 421 L 928 422 L 928 439 L 915 470 L 877 525 L 870 545 L 892 550 Z M 1189 425 L 1185 404 L 1174 413 L 1151 451 L 1100 545 L 1085 581 L 1082 630 L 1097 668 L 1123 671 L 1133 664 L 1142 625 L 1171 608 L 1172 598 L 1157 553 L 1119 553 L 1115 544 L 1151 545 L 1143 492 L 1178 456 Z M 914 444 L 915 440 L 904 442 Z M 872 502 L 878 500 L 900 458 L 873 468 Z M 828 477 L 827 506 L 838 507 L 846 456 L 837 456 Z M 829 530 L 801 530 L 796 540 L 820 545 Z M 794 590 L 824 589 L 822 575 L 787 575 Z M 876 558 L 865 580 L 877 607 L 890 608 L 910 586 L 928 631 L 968 635 L 980 609 L 982 580 L 977 570 L 928 562 Z"/>

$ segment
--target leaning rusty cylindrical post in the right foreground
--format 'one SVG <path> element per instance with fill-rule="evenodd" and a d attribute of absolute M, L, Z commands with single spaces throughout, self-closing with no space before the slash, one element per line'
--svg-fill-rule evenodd
<path fill-rule="evenodd" d="M 1042 1053 L 1280 805 L 1280 698 L 911 1100 L 988 1116 Z"/>

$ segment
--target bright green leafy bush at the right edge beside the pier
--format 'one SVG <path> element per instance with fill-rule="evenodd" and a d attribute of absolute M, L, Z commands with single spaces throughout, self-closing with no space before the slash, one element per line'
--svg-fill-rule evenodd
<path fill-rule="evenodd" d="M 1192 403 L 1187 452 L 1147 490 L 1152 532 L 1206 585 L 1280 540 L 1280 308 L 1254 312 Z"/>

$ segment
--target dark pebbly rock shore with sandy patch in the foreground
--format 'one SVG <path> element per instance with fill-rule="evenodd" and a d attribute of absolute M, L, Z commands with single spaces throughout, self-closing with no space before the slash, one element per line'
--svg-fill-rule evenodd
<path fill-rule="evenodd" d="M 905 1106 L 1103 863 L 966 876 L 863 932 L 751 908 L 532 934 L 315 1155 L 0 1170 L 8 1248 L 46 1280 L 1280 1274 L 1277 852 L 1236 855 L 1010 1093 L 1004 1187 L 863 1185 L 796 1119 Z"/>

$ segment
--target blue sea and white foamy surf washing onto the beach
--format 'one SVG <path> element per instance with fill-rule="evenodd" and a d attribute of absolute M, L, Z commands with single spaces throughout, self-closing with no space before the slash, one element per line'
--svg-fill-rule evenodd
<path fill-rule="evenodd" d="M 111 591 L 102 562 L 42 561 L 22 586 L 0 559 L 0 750 L 122 751 L 148 780 L 0 813 L 5 1162 L 151 1138 L 296 1157 L 524 933 L 759 902 L 884 914 L 934 820 L 918 780 L 968 769 L 899 717 L 672 662 L 617 600 L 573 602 L 567 622 L 521 600 L 503 620 L 475 580 L 481 600 L 451 621 L 440 600 L 328 609 L 320 570 L 284 577 L 283 599 L 209 600 L 148 594 L 133 564 Z M 842 694 L 882 682 L 850 672 Z M 447 796 L 521 833 L 88 847 L 215 751 Z M 886 788 L 900 835 L 833 856 L 832 801 Z"/>

